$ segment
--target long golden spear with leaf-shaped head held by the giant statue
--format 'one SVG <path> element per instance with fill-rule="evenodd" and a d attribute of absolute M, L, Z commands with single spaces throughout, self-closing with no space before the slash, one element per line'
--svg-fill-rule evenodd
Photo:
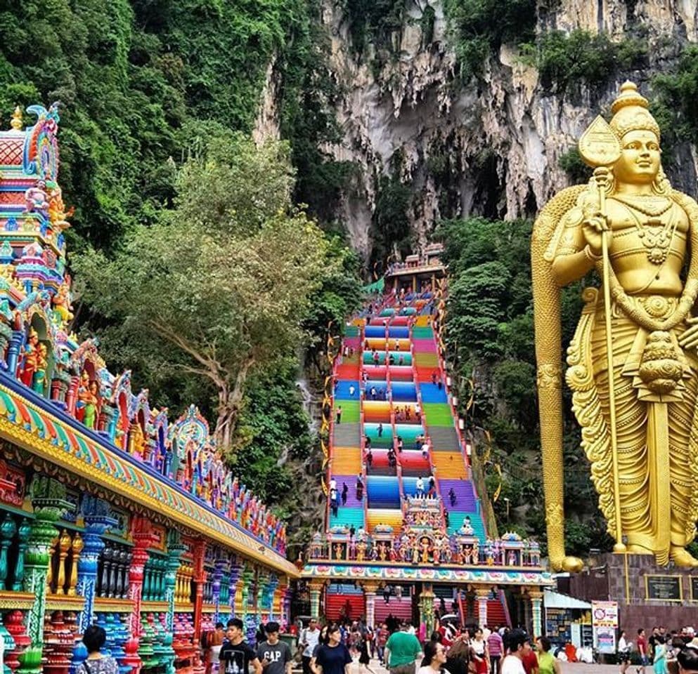
<path fill-rule="evenodd" d="M 604 315 L 606 319 L 606 361 L 608 366 L 608 400 L 611 430 L 611 454 L 613 462 L 613 501 L 616 518 L 615 553 L 626 551 L 623 543 L 621 522 L 621 494 L 618 474 L 618 437 L 616 432 L 616 392 L 614 390 L 613 333 L 611 331 L 611 286 L 609 274 L 611 263 L 608 253 L 609 227 L 606 220 L 606 190 L 611 166 L 621 157 L 621 144 L 607 121 L 600 115 L 590 124 L 579 139 L 579 154 L 594 169 L 594 180 L 599 189 L 599 211 L 603 216 L 601 232 L 602 281 L 604 292 Z"/>

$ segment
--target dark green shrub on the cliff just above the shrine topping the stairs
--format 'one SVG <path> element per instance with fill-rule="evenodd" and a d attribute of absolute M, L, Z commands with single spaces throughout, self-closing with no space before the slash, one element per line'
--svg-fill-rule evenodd
<path fill-rule="evenodd" d="M 375 260 L 385 260 L 393 251 L 399 251 L 401 256 L 410 252 L 411 203 L 412 190 L 408 185 L 398 176 L 381 176 L 371 223 Z"/>

